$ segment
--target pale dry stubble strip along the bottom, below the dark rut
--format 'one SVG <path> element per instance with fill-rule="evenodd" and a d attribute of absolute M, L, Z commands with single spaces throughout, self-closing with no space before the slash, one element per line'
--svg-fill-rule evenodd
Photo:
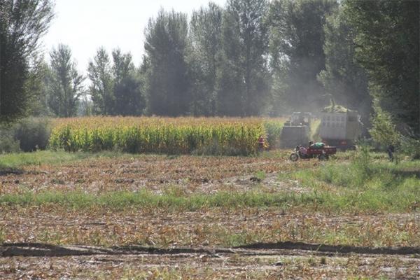
<path fill-rule="evenodd" d="M 420 259 L 407 255 L 269 248 L 153 251 L 136 247 L 73 247 L 67 250 L 73 251 L 73 255 L 1 258 L 0 276 L 2 279 L 343 279 L 360 275 L 418 279 L 420 276 Z M 94 254 L 75 253 L 88 250 Z"/>

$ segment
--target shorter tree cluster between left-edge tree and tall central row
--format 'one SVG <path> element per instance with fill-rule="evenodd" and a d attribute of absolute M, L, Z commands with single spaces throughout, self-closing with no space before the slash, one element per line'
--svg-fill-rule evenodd
<path fill-rule="evenodd" d="M 112 58 L 111 58 L 112 57 Z M 115 49 L 111 57 L 99 48 L 90 61 L 87 76 L 79 73 L 68 45 L 50 52 L 50 63 L 43 68 L 43 98 L 32 104 L 34 115 L 141 116 L 144 114 L 143 79 L 130 53 Z M 90 81 L 86 86 L 85 80 Z M 44 104 L 44 109 L 41 110 Z"/>

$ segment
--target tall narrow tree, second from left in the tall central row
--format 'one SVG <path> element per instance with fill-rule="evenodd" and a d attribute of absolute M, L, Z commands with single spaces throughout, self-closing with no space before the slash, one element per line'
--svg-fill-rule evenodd
<path fill-rule="evenodd" d="M 191 77 L 190 112 L 194 116 L 216 115 L 216 82 L 220 69 L 223 10 L 215 3 L 194 11 L 190 20 L 188 66 Z"/>

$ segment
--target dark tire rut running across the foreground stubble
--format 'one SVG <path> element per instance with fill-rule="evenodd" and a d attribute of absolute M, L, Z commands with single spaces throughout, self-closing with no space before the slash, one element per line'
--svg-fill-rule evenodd
<path fill-rule="evenodd" d="M 218 258 L 218 254 L 255 254 L 266 251 L 294 250 L 317 253 L 356 253 L 360 255 L 420 255 L 420 247 L 357 247 L 302 242 L 259 243 L 235 248 L 153 248 L 144 246 L 55 246 L 39 243 L 3 244 L 0 257 L 62 257 L 77 255 L 182 255 L 200 254 Z"/>

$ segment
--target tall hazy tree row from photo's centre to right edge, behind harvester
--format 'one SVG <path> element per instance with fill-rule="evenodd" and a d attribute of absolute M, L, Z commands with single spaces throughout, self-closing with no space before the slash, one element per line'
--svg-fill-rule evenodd
<path fill-rule="evenodd" d="M 418 1 L 229 0 L 188 27 L 174 15 L 161 10 L 146 30 L 148 113 L 276 116 L 332 99 L 366 125 L 374 103 L 419 132 Z"/>

